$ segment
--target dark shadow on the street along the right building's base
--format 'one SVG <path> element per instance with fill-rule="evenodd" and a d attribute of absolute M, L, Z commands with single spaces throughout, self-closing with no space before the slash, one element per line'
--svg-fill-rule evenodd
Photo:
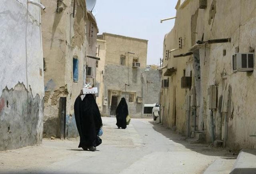
<path fill-rule="evenodd" d="M 237 158 L 237 153 L 232 152 L 229 149 L 214 148 L 211 144 L 190 143 L 189 140 L 191 140 L 191 138 L 182 136 L 181 134 L 178 134 L 174 130 L 171 130 L 170 128 L 166 128 L 162 124 L 156 123 L 155 121 L 149 121 L 149 123 L 153 125 L 153 129 L 156 132 L 159 132 L 160 134 L 164 135 L 166 138 L 168 138 L 169 140 L 172 140 L 173 142 L 182 144 L 183 146 L 185 146 L 186 148 L 194 152 L 198 152 L 200 154 L 204 154 L 207 156 L 220 156 L 224 159 Z"/>

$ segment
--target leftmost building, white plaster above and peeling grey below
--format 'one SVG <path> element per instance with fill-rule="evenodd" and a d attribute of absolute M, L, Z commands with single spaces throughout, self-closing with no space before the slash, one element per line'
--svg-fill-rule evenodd
<path fill-rule="evenodd" d="M 41 15 L 27 0 L 0 6 L 0 150 L 9 150 L 42 142 Z"/>

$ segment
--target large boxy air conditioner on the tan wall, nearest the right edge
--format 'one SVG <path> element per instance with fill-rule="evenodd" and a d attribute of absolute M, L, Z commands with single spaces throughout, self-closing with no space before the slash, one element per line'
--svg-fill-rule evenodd
<path fill-rule="evenodd" d="M 233 55 L 233 71 L 253 71 L 254 53 L 236 53 Z"/>

